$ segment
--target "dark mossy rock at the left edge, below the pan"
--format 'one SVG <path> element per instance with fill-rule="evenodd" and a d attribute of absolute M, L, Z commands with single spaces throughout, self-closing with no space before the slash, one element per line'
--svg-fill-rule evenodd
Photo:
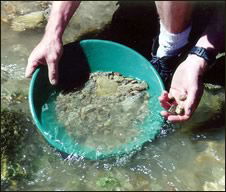
<path fill-rule="evenodd" d="M 20 150 L 25 146 L 29 132 L 23 113 L 1 110 L 1 190 L 17 187 L 18 182 L 28 176 L 20 160 Z"/>

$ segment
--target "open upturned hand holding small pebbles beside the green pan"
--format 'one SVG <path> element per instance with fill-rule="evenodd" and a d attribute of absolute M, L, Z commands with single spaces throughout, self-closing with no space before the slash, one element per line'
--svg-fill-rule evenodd
<path fill-rule="evenodd" d="M 189 55 L 176 69 L 169 93 L 164 91 L 159 97 L 162 107 L 168 110 L 172 105 L 180 105 L 184 108 L 181 115 L 171 114 L 169 111 L 162 111 L 161 115 L 171 122 L 182 122 L 188 120 L 197 108 L 203 94 L 202 76 L 206 68 L 206 61 L 196 55 Z M 185 100 L 180 100 L 186 96 Z M 175 101 L 170 103 L 170 98 Z"/>

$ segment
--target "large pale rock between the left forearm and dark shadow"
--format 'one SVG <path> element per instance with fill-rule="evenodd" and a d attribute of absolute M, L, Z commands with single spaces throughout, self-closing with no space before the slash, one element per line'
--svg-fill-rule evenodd
<path fill-rule="evenodd" d="M 101 31 L 112 20 L 117 1 L 82 1 L 63 35 L 63 42 L 78 40 L 89 32 Z"/>

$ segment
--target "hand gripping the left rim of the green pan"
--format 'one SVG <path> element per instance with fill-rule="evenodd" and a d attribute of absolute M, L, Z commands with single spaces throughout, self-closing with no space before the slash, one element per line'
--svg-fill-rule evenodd
<path fill-rule="evenodd" d="M 62 39 L 54 37 L 53 34 L 45 34 L 28 58 L 25 77 L 31 77 L 39 65 L 47 65 L 49 81 L 52 85 L 56 85 L 58 83 L 58 62 L 62 53 Z"/>

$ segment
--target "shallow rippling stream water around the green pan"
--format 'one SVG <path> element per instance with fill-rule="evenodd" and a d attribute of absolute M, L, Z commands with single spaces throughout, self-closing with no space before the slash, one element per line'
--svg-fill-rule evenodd
<path fill-rule="evenodd" d="M 32 169 L 32 176 L 2 190 L 225 190 L 222 87 L 206 88 L 189 122 L 163 129 L 156 140 L 130 156 L 101 161 L 63 159 L 31 123 L 27 100 L 9 104 L 14 92 L 27 94 L 29 80 L 23 77 L 27 57 L 43 29 L 14 32 L 2 22 L 1 32 L 1 106 L 25 112 L 32 130 L 21 151 L 27 160 L 24 169 Z"/>

